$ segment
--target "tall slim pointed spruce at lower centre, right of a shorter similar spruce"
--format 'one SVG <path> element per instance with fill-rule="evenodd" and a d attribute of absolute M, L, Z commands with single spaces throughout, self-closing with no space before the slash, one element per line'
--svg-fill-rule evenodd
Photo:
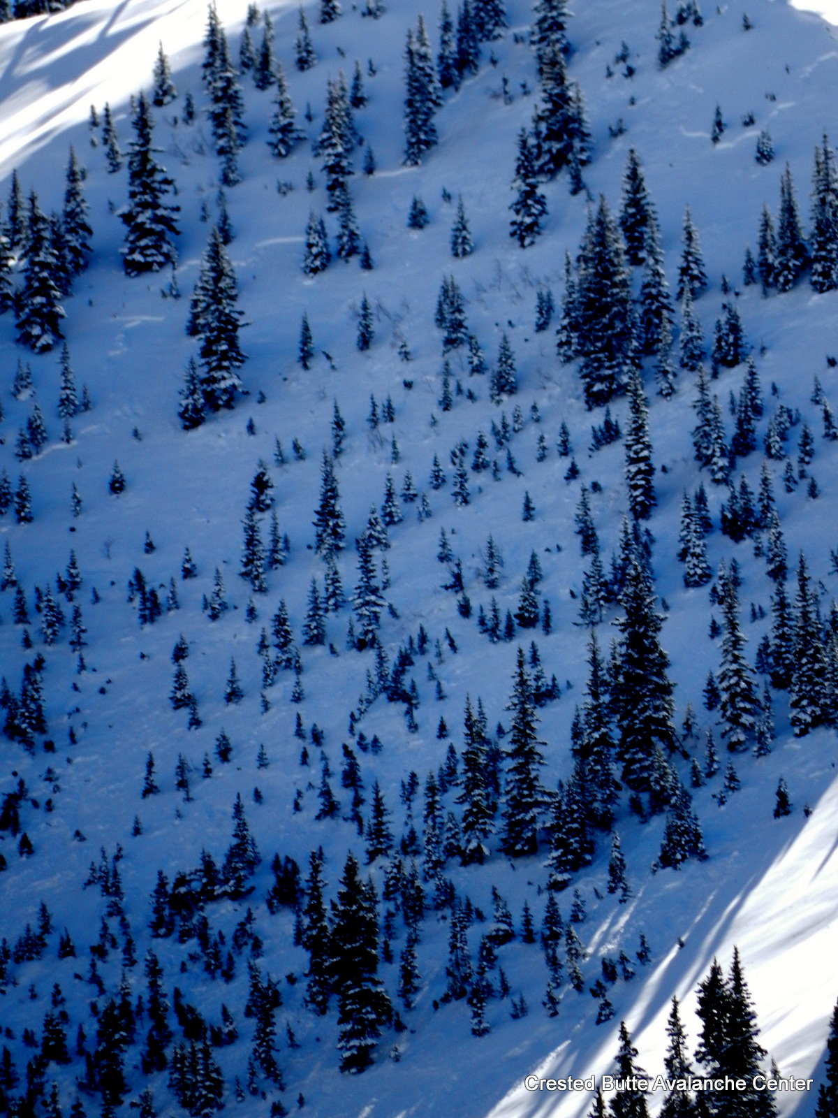
<path fill-rule="evenodd" d="M 544 789 L 539 767 L 544 764 L 536 735 L 537 718 L 532 681 L 524 650 L 518 645 L 513 674 L 513 691 L 507 707 L 512 727 L 506 746 L 506 783 L 504 788 L 504 852 L 512 858 L 534 854 L 539 845 L 539 817 L 544 805 Z"/>

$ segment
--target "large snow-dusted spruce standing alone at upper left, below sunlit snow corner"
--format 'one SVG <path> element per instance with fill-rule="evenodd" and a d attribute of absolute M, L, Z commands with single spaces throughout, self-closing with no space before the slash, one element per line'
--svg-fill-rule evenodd
<path fill-rule="evenodd" d="M 126 274 L 135 276 L 177 263 L 171 238 L 180 233 L 174 217 L 180 207 L 165 200 L 174 183 L 154 161 L 158 149 L 152 146 L 153 123 L 144 93 L 136 100 L 131 123 L 135 139 L 128 145 L 128 205 L 120 217 L 127 226 L 123 264 Z"/>

